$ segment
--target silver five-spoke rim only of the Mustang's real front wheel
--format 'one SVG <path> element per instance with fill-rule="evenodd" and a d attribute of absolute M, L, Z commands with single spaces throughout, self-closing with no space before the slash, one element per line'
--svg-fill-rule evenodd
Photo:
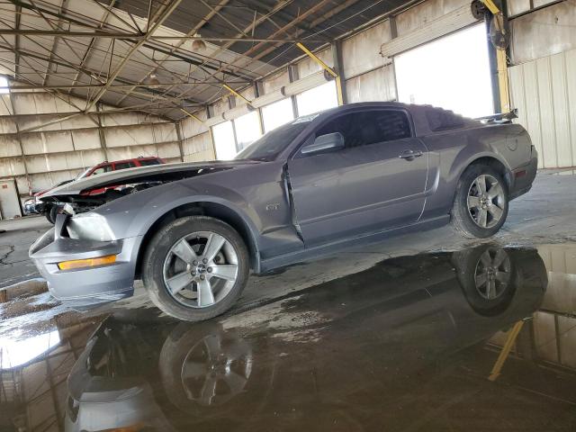
<path fill-rule="evenodd" d="M 238 278 L 238 253 L 211 231 L 180 238 L 164 260 L 164 284 L 176 302 L 206 308 L 224 299 Z"/>

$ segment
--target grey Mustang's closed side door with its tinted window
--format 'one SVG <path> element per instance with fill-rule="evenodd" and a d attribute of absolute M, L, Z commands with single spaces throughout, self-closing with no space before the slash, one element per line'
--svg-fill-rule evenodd
<path fill-rule="evenodd" d="M 288 162 L 294 211 L 307 247 L 410 225 L 424 208 L 428 151 L 410 114 L 377 109 L 337 116 L 306 144 L 340 132 L 345 148 Z"/>

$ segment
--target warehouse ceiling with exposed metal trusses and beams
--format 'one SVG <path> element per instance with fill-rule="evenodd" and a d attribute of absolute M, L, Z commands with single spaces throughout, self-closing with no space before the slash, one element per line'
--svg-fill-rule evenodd
<path fill-rule="evenodd" d="M 9 0 L 0 73 L 43 89 L 179 120 L 406 0 Z"/>

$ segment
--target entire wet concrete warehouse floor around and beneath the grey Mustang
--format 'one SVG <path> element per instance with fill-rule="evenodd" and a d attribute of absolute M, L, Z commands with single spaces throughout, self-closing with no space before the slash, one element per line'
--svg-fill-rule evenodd
<path fill-rule="evenodd" d="M 576 430 L 575 203 L 572 171 L 542 172 L 495 238 L 445 227 L 252 277 L 232 311 L 201 324 L 160 315 L 139 284 L 129 300 L 68 310 L 30 282 L 27 249 L 48 223 L 0 221 L 0 360 L 15 365 L 0 384 L 24 389 L 18 403 L 0 397 L 0 419 L 47 430 Z M 467 281 L 489 249 L 505 251 L 511 276 L 487 306 Z"/>

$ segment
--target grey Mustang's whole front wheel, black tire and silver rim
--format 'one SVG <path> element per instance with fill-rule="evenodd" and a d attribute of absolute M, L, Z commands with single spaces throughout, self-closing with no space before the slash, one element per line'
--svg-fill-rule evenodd
<path fill-rule="evenodd" d="M 150 241 L 142 262 L 142 280 L 152 302 L 185 321 L 209 320 L 228 311 L 244 290 L 248 273 L 247 247 L 238 232 L 205 216 L 166 224 Z"/>

